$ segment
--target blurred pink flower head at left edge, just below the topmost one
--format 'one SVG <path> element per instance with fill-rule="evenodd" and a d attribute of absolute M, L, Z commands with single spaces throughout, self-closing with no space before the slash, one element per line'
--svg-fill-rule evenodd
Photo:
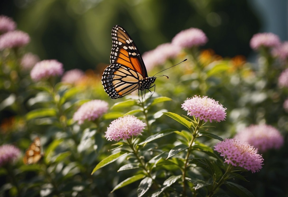
<path fill-rule="evenodd" d="M 10 31 L 0 36 L 0 50 L 6 48 L 18 48 L 27 45 L 30 42 L 30 36 L 22 31 Z"/>

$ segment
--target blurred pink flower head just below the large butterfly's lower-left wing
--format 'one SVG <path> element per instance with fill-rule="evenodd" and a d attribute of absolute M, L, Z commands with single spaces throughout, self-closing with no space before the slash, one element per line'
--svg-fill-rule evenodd
<path fill-rule="evenodd" d="M 78 121 L 78 124 L 82 124 L 84 120 L 93 121 L 106 113 L 108 110 L 108 103 L 102 100 L 92 100 L 84 103 L 74 113 L 73 120 Z"/>

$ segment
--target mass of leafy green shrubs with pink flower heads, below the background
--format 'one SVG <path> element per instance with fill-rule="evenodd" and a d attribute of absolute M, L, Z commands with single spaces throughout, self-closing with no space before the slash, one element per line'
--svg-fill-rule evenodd
<path fill-rule="evenodd" d="M 183 30 L 143 59 L 151 74 L 187 61 L 165 70 L 169 78 L 158 77 L 152 95 L 112 100 L 102 71 L 64 72 L 60 59 L 41 61 L 24 48 L 33 37 L 11 18 L 0 16 L 0 31 L 0 111 L 11 112 L 0 122 L 3 196 L 287 191 L 287 57 L 278 36 L 251 38 L 261 59 L 254 66 L 200 50 L 205 33 Z"/>

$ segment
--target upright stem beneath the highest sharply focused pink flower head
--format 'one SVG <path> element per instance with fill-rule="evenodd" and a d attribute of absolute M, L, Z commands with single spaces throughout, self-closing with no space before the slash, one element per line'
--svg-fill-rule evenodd
<path fill-rule="evenodd" d="M 183 182 L 183 197 L 186 196 L 186 185 L 185 185 L 185 177 L 186 177 L 186 171 L 187 171 L 187 167 L 189 165 L 188 163 L 188 160 L 189 160 L 189 156 L 190 156 L 190 153 L 192 151 L 192 144 L 193 142 L 195 141 L 196 139 L 196 136 L 198 134 L 198 131 L 200 129 L 200 127 L 202 126 L 203 124 L 203 120 L 200 120 L 198 119 L 198 124 L 196 125 L 195 129 L 194 129 L 194 132 L 192 134 L 192 139 L 190 140 L 189 142 L 189 148 L 187 150 L 187 154 L 186 154 L 186 157 L 185 157 L 185 164 L 184 164 L 184 168 L 182 170 L 182 182 Z"/>

